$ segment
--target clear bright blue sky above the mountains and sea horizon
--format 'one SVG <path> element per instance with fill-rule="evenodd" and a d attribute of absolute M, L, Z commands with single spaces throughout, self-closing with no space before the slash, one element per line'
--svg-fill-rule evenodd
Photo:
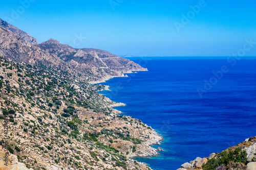
<path fill-rule="evenodd" d="M 11 24 L 39 42 L 53 38 L 74 46 L 75 35 L 81 34 L 87 38 L 78 48 L 134 56 L 229 56 L 245 39 L 256 42 L 255 0 L 205 0 L 179 32 L 175 23 L 182 23 L 182 14 L 201 0 L 113 0 L 112 6 L 109 0 L 30 1 L 25 11 L 20 1 L 1 1 L 0 17 L 13 18 L 19 10 Z M 246 56 L 256 56 L 256 45 Z"/>

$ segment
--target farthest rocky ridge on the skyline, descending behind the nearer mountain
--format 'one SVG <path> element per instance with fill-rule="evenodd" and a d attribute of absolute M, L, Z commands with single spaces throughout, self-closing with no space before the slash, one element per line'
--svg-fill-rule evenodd
<path fill-rule="evenodd" d="M 17 34 L 18 36 L 22 37 L 32 45 L 38 44 L 37 40 L 34 37 L 32 37 L 31 35 L 29 35 L 28 33 L 22 30 L 19 30 L 17 27 L 10 25 L 10 23 L 2 20 L 1 18 L 0 18 L 0 26 L 7 30 L 10 30 L 14 34 Z"/>

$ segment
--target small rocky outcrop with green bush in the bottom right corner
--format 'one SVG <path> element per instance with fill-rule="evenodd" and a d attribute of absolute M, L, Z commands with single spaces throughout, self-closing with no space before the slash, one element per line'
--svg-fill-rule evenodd
<path fill-rule="evenodd" d="M 212 153 L 209 157 L 186 162 L 177 170 L 255 170 L 256 169 L 256 136 L 230 147 L 221 153 Z"/>

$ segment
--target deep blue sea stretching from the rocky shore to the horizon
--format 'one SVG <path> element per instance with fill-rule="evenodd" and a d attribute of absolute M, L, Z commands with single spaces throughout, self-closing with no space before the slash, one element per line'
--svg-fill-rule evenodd
<path fill-rule="evenodd" d="M 166 152 L 136 160 L 153 169 L 172 170 L 256 136 L 256 60 L 234 64 L 225 58 L 129 59 L 148 71 L 102 83 L 112 91 L 100 93 L 127 104 L 116 109 L 164 137 L 160 147 Z M 204 90 L 201 95 L 199 88 Z"/>

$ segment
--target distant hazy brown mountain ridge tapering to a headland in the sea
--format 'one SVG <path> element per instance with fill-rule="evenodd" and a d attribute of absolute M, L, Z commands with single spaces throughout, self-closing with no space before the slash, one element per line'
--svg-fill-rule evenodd
<path fill-rule="evenodd" d="M 54 39 L 38 44 L 29 34 L 6 21 L 1 20 L 1 23 L 0 56 L 17 63 L 46 67 L 90 83 L 147 70 L 133 61 L 102 50 L 76 49 Z"/>

